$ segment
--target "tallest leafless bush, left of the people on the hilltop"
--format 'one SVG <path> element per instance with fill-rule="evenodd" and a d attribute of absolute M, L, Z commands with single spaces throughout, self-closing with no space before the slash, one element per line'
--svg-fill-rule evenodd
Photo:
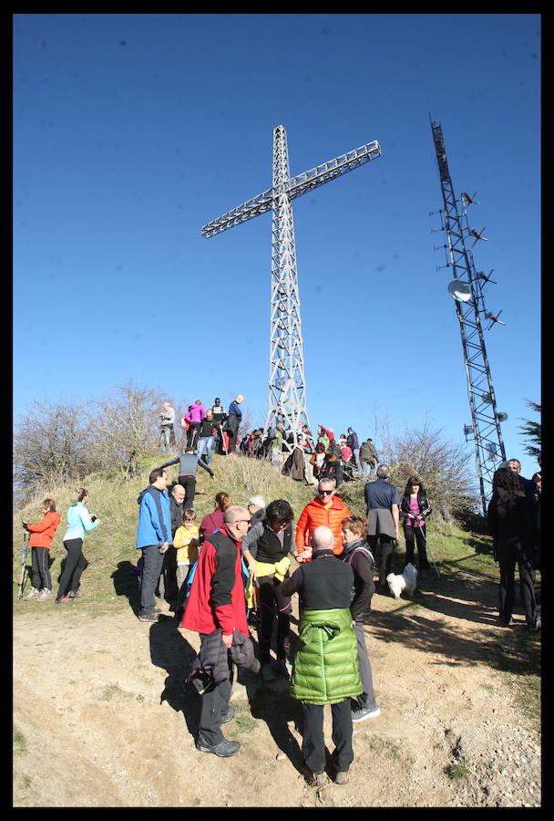
<path fill-rule="evenodd" d="M 139 473 L 139 459 L 158 447 L 161 401 L 159 390 L 129 380 L 114 396 L 93 404 L 88 420 L 102 469 L 120 468 L 126 478 Z"/>

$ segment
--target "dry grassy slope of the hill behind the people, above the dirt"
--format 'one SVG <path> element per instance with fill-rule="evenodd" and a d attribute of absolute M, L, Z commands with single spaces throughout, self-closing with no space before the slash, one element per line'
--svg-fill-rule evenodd
<path fill-rule="evenodd" d="M 131 565 L 137 563 L 139 552 L 135 549 L 137 532 L 139 492 L 148 485 L 148 476 L 152 468 L 160 462 L 159 454 L 141 463 L 139 478 L 123 480 L 116 475 L 103 473 L 92 474 L 84 481 L 89 493 L 88 509 L 100 519 L 97 530 L 85 537 L 84 553 L 87 556 L 89 567 L 82 577 L 85 601 L 95 609 L 106 610 L 123 606 L 126 583 L 132 582 L 130 576 Z M 227 458 L 215 456 L 212 462 L 215 473 L 215 482 L 210 480 L 208 473 L 199 470 L 195 510 L 197 521 L 213 509 L 215 494 L 226 491 L 231 495 L 231 504 L 246 504 L 253 494 L 262 494 L 266 502 L 272 499 L 286 499 L 292 504 L 297 518 L 304 504 L 313 497 L 313 487 L 303 483 L 293 482 L 282 476 L 272 468 L 268 462 L 261 462 L 245 457 Z M 177 479 L 177 466 L 169 468 L 169 478 Z M 50 567 L 54 592 L 57 589 L 57 579 L 60 575 L 61 562 L 66 551 L 62 544 L 67 524 L 67 507 L 75 488 L 61 486 L 45 488 L 44 493 L 36 497 L 30 504 L 16 510 L 13 516 L 13 579 L 14 598 L 17 596 L 17 586 L 21 573 L 21 547 L 23 543 L 22 519 L 36 522 L 41 516 L 43 499 L 53 496 L 56 499 L 57 510 L 62 514 L 62 521 L 57 528 L 54 543 L 51 549 L 53 559 Z M 364 481 L 357 480 L 345 483 L 340 495 L 344 498 L 351 510 L 364 514 Z M 429 552 L 439 568 L 451 563 L 462 563 L 467 570 L 485 570 L 495 572 L 492 559 L 492 546 L 487 535 L 462 530 L 459 526 L 446 524 L 438 515 L 434 515 L 428 527 Z M 395 553 L 395 569 L 399 572 L 404 558 L 404 538 L 401 534 L 398 550 Z M 30 567 L 31 557 L 28 556 L 27 565 Z M 114 576 L 115 574 L 115 576 Z M 30 589 L 30 581 L 26 582 L 26 592 Z M 35 602 L 29 602 L 36 607 Z M 25 606 L 23 602 L 21 606 Z M 54 607 L 54 598 L 39 605 L 43 608 Z"/>

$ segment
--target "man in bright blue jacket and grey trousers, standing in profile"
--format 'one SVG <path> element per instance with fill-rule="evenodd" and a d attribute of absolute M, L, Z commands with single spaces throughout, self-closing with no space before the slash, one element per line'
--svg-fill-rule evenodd
<path fill-rule="evenodd" d="M 142 550 L 143 570 L 140 583 L 139 620 L 158 621 L 154 591 L 158 584 L 163 565 L 163 556 L 173 544 L 171 535 L 171 511 L 168 474 L 156 468 L 149 475 L 149 486 L 139 494 L 139 526 L 137 528 L 137 550 Z"/>

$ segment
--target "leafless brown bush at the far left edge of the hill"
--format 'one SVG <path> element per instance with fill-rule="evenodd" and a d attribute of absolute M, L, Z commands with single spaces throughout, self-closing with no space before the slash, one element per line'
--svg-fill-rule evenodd
<path fill-rule="evenodd" d="M 15 490 L 25 497 L 97 468 L 83 404 L 35 402 L 15 427 Z"/>

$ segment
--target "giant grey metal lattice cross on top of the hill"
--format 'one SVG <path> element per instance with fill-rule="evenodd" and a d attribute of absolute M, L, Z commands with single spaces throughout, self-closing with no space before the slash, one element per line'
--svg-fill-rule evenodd
<path fill-rule="evenodd" d="M 292 200 L 313 191 L 354 168 L 381 156 L 379 143 L 368 142 L 310 171 L 291 177 L 287 132 L 282 125 L 273 129 L 273 184 L 242 205 L 202 226 L 205 237 L 272 211 L 272 304 L 270 320 L 269 410 L 264 436 L 274 421 L 284 421 L 296 445 L 300 423 L 310 429 L 306 411 L 306 385 L 296 245 L 292 220 Z"/>

